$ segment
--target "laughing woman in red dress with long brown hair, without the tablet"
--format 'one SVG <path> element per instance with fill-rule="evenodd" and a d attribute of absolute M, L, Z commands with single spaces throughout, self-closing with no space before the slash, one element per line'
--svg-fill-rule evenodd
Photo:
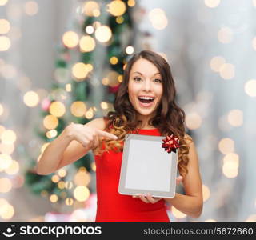
<path fill-rule="evenodd" d="M 202 213 L 202 181 L 194 142 L 185 134 L 184 111 L 175 103 L 170 66 L 150 50 L 134 54 L 114 101 L 114 112 L 86 125 L 71 123 L 47 146 L 38 174 L 50 174 L 94 151 L 98 207 L 96 222 L 170 222 L 166 202 L 192 218 Z M 178 170 L 186 195 L 153 198 L 118 194 L 125 135 L 174 134 L 179 138 Z"/>

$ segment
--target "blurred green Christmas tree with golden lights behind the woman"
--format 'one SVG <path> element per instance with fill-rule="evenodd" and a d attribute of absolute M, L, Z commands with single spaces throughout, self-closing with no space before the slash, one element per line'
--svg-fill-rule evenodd
<path fill-rule="evenodd" d="M 86 124 L 113 110 L 126 58 L 134 53 L 134 6 L 130 0 L 82 2 L 76 6 L 74 30 L 62 36 L 50 94 L 41 102 L 42 124 L 35 127 L 44 143 L 26 171 L 26 185 L 54 206 L 63 202 L 78 206 L 89 198 L 94 191 L 90 186 L 93 155 L 88 153 L 49 175 L 38 175 L 35 166 L 46 146 L 70 122 Z"/>

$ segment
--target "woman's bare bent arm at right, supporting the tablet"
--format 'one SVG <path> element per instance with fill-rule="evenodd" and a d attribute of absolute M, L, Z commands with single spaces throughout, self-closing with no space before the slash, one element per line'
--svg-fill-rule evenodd
<path fill-rule="evenodd" d="M 192 218 L 198 218 L 202 213 L 202 180 L 198 166 L 198 154 L 194 142 L 190 143 L 188 158 L 188 174 L 186 174 L 183 180 L 186 195 L 175 194 L 174 198 L 165 198 L 165 200 L 182 211 L 182 213 Z"/>

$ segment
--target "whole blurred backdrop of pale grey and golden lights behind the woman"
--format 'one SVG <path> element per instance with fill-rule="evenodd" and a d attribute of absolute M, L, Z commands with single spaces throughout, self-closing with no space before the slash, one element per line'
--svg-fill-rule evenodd
<path fill-rule="evenodd" d="M 171 222 L 256 222 L 256 0 L 0 0 L 0 221 L 94 222 L 92 153 L 34 166 L 69 124 L 113 109 L 130 55 L 170 63 L 197 146 L 204 209 Z"/>

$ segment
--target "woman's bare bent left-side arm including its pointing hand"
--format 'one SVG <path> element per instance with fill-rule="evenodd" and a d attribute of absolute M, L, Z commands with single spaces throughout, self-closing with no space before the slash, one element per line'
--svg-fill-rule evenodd
<path fill-rule="evenodd" d="M 99 144 L 100 137 L 113 138 L 105 129 L 103 118 L 96 118 L 86 125 L 71 124 L 44 150 L 37 166 L 38 174 L 50 174 L 77 161 Z"/>

